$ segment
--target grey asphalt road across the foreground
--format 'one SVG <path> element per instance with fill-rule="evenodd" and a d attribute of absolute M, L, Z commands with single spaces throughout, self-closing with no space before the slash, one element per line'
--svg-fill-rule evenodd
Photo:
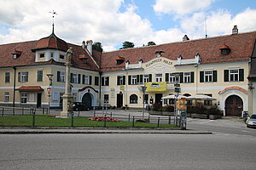
<path fill-rule="evenodd" d="M 224 133 L 2 134 L 0 169 L 255 169 L 255 143 Z"/>

